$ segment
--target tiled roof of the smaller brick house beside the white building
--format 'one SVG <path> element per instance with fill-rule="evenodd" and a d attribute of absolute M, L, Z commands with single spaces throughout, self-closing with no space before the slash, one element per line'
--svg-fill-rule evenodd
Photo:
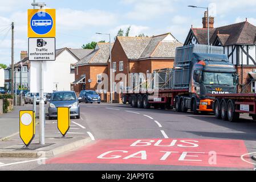
<path fill-rule="evenodd" d="M 111 45 L 113 46 L 113 44 Z M 83 57 L 75 66 L 85 64 L 107 64 L 109 57 L 109 43 L 97 43 L 94 51 Z"/>

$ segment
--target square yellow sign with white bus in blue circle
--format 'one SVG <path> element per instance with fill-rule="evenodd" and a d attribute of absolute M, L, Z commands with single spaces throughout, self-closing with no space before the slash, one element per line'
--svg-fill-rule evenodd
<path fill-rule="evenodd" d="M 29 38 L 53 38 L 56 35 L 55 9 L 27 10 Z"/>

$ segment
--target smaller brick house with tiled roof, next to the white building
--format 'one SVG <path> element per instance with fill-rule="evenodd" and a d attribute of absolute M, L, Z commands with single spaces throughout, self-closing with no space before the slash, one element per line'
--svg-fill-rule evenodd
<path fill-rule="evenodd" d="M 102 74 L 108 74 L 109 43 L 97 43 L 94 51 L 78 61 L 75 66 L 74 90 L 97 90 Z M 104 90 L 107 92 L 108 90 Z"/>

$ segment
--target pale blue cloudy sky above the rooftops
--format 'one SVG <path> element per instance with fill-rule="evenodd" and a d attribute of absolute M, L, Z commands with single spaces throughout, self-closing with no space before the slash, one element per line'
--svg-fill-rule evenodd
<path fill-rule="evenodd" d="M 43 1 L 43 0 L 42 0 Z M 0 63 L 11 63 L 10 23 L 15 23 L 15 61 L 27 51 L 27 9 L 32 0 L 1 0 Z M 41 2 L 41 1 L 40 1 Z M 56 48 L 80 48 L 91 41 L 107 40 L 95 32 L 111 33 L 131 26 L 131 36 L 141 33 L 159 35 L 171 32 L 184 42 L 189 28 L 202 27 L 203 9 L 188 5 L 210 6 L 214 26 L 242 22 L 256 25 L 255 0 L 44 0 L 47 8 L 56 9 Z"/>

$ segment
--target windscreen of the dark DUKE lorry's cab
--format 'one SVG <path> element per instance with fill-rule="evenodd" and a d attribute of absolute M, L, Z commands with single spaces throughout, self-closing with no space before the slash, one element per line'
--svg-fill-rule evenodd
<path fill-rule="evenodd" d="M 204 72 L 202 82 L 205 85 L 235 85 L 233 73 Z"/>

